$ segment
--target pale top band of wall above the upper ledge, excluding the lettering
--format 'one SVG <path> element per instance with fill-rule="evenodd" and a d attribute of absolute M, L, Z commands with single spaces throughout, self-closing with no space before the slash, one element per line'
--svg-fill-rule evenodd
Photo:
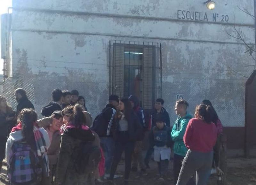
<path fill-rule="evenodd" d="M 216 8 L 210 11 L 202 0 L 12 0 L 13 7 L 29 7 L 74 12 L 110 13 L 117 15 L 148 16 L 177 19 L 177 10 L 202 11 L 207 13 L 228 14 L 230 22 L 252 24 L 253 20 L 242 13 L 238 7 L 253 12 L 253 1 L 222 0 L 216 2 Z M 235 15 L 235 16 L 234 16 Z M 238 16 L 239 15 L 239 16 Z"/>

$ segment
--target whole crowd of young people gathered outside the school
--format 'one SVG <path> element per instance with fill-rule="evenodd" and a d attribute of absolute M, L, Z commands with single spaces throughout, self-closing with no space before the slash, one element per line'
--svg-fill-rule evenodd
<path fill-rule="evenodd" d="M 171 126 L 161 98 L 153 110 L 143 110 L 137 96 L 110 95 L 93 120 L 77 90 L 54 89 L 52 101 L 41 110 L 44 118 L 37 119 L 25 90 L 14 93 L 16 112 L 0 96 L 0 167 L 6 158 L 13 185 L 114 183 L 123 153 L 124 184 L 131 171 L 148 175 L 153 154 L 159 181 L 173 178 L 176 185 L 206 185 L 212 169 L 223 174 L 222 124 L 209 100 L 196 106 L 194 118 L 188 102 L 177 100 L 178 118 Z M 172 152 L 173 177 L 168 172 Z"/>

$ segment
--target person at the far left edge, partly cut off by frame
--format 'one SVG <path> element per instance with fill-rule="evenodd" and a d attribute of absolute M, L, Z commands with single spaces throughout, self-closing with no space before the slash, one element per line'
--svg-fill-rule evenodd
<path fill-rule="evenodd" d="M 6 103 L 6 98 L 0 96 L 0 170 L 5 158 L 5 145 L 12 127 L 16 124 L 15 111 Z"/>

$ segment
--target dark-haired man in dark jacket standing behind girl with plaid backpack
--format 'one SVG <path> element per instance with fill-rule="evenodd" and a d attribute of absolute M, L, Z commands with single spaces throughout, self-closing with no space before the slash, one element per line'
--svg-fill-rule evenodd
<path fill-rule="evenodd" d="M 28 100 L 26 96 L 26 91 L 24 89 L 16 89 L 15 91 L 15 98 L 18 103 L 16 113 L 17 115 L 20 113 L 22 109 L 31 108 L 35 109 L 34 105 Z"/>

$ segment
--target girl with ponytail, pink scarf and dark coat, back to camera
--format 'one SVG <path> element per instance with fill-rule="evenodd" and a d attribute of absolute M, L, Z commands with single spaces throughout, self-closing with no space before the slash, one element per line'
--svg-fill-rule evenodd
<path fill-rule="evenodd" d="M 83 108 L 79 104 L 68 106 L 61 113 L 65 124 L 60 128 L 62 134 L 55 184 L 84 184 L 86 173 L 80 167 L 87 164 L 83 164 L 81 151 L 84 143 L 94 141 L 95 135 L 86 126 Z"/>

